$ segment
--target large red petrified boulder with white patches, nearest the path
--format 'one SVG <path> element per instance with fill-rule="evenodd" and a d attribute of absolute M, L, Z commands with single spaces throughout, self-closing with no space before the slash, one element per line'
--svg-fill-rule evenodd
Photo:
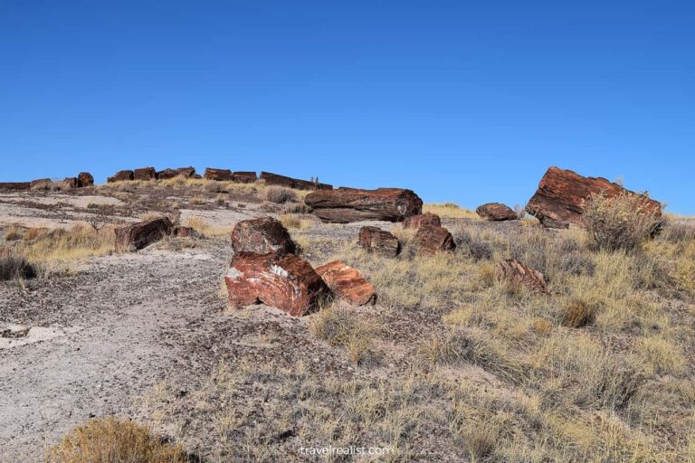
<path fill-rule="evenodd" d="M 240 252 L 224 282 L 232 307 L 262 302 L 294 317 L 307 315 L 330 293 L 309 262 L 294 254 Z"/>

